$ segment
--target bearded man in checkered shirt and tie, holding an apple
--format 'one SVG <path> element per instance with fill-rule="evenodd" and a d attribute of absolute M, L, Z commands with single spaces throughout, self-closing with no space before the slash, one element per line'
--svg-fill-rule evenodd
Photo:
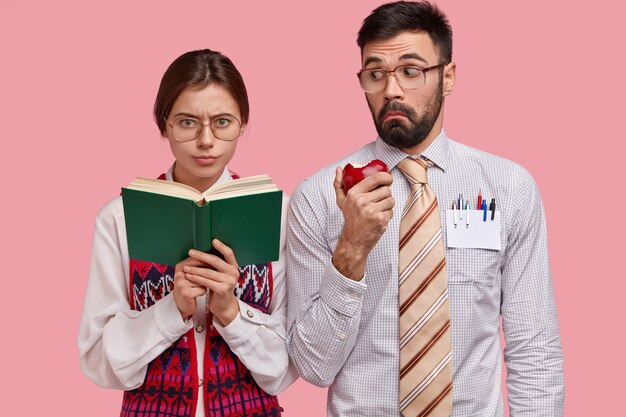
<path fill-rule="evenodd" d="M 385 4 L 357 43 L 378 137 L 338 165 L 380 159 L 390 173 L 345 192 L 342 169 L 328 167 L 291 199 L 295 366 L 329 387 L 331 417 L 504 416 L 502 320 L 511 416 L 561 416 L 541 198 L 519 165 L 446 137 L 447 18 L 425 2 Z"/>

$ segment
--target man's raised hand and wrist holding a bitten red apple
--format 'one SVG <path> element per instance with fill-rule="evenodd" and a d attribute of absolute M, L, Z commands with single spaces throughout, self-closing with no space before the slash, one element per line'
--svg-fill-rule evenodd
<path fill-rule="evenodd" d="M 332 262 L 347 278 L 363 278 L 367 257 L 387 229 L 395 204 L 391 183 L 387 166 L 379 160 L 336 170 L 333 186 L 344 226 Z"/>

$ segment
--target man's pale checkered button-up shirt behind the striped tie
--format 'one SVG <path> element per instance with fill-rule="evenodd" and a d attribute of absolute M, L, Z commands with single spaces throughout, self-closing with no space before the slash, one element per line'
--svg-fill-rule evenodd
<path fill-rule="evenodd" d="M 410 185 L 396 165 L 407 155 L 380 139 L 303 181 L 288 216 L 288 348 L 301 376 L 329 386 L 331 417 L 398 416 L 398 239 Z M 446 269 L 453 363 L 453 416 L 504 416 L 502 320 L 512 417 L 562 416 L 563 368 L 547 254 L 546 225 L 534 180 L 521 166 L 448 139 L 422 156 L 445 209 L 478 190 L 501 211 L 502 250 L 449 248 Z M 383 160 L 391 170 L 394 216 L 369 255 L 365 277 L 337 272 L 331 256 L 343 227 L 334 168 Z M 444 244 L 446 244 L 444 233 Z"/>

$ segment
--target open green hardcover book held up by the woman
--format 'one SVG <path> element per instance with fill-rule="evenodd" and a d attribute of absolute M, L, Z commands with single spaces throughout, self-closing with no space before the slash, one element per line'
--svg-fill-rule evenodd
<path fill-rule="evenodd" d="M 283 193 L 267 175 L 239 178 L 200 193 L 184 184 L 136 178 L 122 188 L 131 259 L 175 265 L 189 249 L 233 249 L 239 266 L 278 259 Z"/>

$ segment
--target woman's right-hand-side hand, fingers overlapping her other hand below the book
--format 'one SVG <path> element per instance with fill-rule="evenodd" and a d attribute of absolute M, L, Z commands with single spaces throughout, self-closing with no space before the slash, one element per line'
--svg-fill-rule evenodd
<path fill-rule="evenodd" d="M 239 303 L 234 294 L 239 281 L 239 266 L 231 248 L 217 239 L 213 239 L 212 243 L 224 259 L 192 249 L 189 259 L 197 263 L 183 265 L 183 271 L 189 282 L 209 290 L 209 311 L 227 326 L 239 314 Z"/>

